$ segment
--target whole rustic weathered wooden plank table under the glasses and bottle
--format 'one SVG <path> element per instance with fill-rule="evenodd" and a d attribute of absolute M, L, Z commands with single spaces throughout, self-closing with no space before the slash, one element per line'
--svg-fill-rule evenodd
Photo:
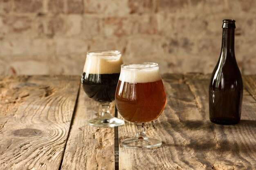
<path fill-rule="evenodd" d="M 242 117 L 231 126 L 209 121 L 209 75 L 162 77 L 167 104 L 146 133 L 163 145 L 149 150 L 119 145 L 135 135 L 129 122 L 88 126 L 101 108 L 80 76 L 0 77 L 0 170 L 256 169 L 256 75 L 243 77 Z"/>

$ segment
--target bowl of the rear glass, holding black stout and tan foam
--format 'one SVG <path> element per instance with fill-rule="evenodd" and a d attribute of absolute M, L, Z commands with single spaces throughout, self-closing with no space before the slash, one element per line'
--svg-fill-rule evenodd
<path fill-rule="evenodd" d="M 88 53 L 81 78 L 88 97 L 102 104 L 113 102 L 121 64 L 123 60 L 119 51 Z"/>

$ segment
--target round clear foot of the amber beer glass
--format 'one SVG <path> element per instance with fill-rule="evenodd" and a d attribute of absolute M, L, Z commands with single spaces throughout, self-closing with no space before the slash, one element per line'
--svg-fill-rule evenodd
<path fill-rule="evenodd" d="M 140 139 L 141 138 L 141 139 Z M 149 137 L 133 137 L 121 141 L 121 146 L 132 149 L 157 148 L 162 145 L 162 141 Z"/>

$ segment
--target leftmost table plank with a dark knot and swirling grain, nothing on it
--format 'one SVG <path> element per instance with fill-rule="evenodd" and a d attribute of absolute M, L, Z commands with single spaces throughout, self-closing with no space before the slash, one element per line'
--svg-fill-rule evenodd
<path fill-rule="evenodd" d="M 58 170 L 79 78 L 0 77 L 0 170 Z"/>

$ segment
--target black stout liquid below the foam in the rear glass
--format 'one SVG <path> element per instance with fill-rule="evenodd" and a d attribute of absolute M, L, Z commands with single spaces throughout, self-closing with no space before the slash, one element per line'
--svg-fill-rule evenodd
<path fill-rule="evenodd" d="M 120 73 L 88 74 L 83 73 L 83 90 L 91 99 L 101 103 L 110 103 L 115 100 L 115 91 Z"/>

